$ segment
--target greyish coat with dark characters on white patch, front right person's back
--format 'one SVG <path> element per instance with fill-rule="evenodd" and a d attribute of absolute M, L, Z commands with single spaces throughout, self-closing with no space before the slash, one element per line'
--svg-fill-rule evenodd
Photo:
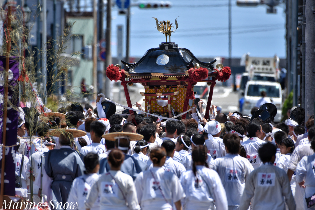
<path fill-rule="evenodd" d="M 251 199 L 255 210 L 295 210 L 287 173 L 273 163 L 265 163 L 249 174 L 241 198 L 240 210 L 247 210 Z"/>

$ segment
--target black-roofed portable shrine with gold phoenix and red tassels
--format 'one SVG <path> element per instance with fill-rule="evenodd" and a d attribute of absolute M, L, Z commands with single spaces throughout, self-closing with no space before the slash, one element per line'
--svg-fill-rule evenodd
<path fill-rule="evenodd" d="M 120 65 L 110 65 L 107 67 L 106 76 L 111 80 L 121 81 L 124 87 L 127 104 L 132 107 L 127 84 L 132 86 L 134 83 L 141 83 L 145 92 L 140 92 L 145 96 L 146 112 L 182 113 L 188 110 L 189 99 L 195 99 L 194 85 L 197 82 L 207 82 L 210 86 L 209 97 L 206 107 L 205 118 L 209 117 L 209 109 L 213 94 L 215 81 L 225 82 L 231 75 L 230 67 L 222 64 L 213 66 L 216 60 L 205 63 L 198 60 L 190 50 L 178 48 L 174 42 L 170 42 L 171 32 L 178 28 L 175 20 L 176 29 L 171 31 L 172 24 L 168 21 L 156 20 L 157 30 L 162 32 L 169 42 L 159 44 L 158 48 L 149 49 L 143 57 L 135 63 Z M 219 70 L 220 68 L 220 70 Z M 157 103 L 167 101 L 167 103 Z M 160 104 L 160 105 L 159 105 Z M 163 107 L 163 104 L 167 109 Z M 131 110 L 129 110 L 132 113 Z M 186 114 L 183 115 L 183 119 Z"/>

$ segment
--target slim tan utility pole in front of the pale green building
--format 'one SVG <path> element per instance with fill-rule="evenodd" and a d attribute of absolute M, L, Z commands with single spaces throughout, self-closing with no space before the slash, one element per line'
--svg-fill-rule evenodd
<path fill-rule="evenodd" d="M 97 95 L 97 2 L 93 0 L 93 93 Z"/>

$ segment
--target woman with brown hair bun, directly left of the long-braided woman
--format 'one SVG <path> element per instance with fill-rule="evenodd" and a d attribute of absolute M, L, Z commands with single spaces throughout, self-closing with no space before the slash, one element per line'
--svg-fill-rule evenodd
<path fill-rule="evenodd" d="M 141 172 L 135 180 L 141 209 L 170 210 L 174 203 L 176 209 L 181 210 L 180 200 L 185 193 L 177 176 L 162 168 L 166 160 L 165 148 L 153 148 L 150 158 L 153 167 Z"/>

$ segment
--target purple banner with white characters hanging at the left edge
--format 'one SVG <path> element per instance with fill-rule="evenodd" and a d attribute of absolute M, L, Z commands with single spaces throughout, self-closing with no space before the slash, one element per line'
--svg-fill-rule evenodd
<path fill-rule="evenodd" d="M 3 135 L 3 100 L 4 100 L 4 80 L 5 80 L 5 56 L 0 56 L 0 144 L 2 144 Z M 10 88 L 18 85 L 19 78 L 19 63 L 15 60 L 9 62 L 9 88 L 8 88 L 8 99 L 14 105 L 19 104 L 19 89 Z M 17 93 L 14 93 L 14 90 Z M 18 126 L 18 112 L 14 110 L 8 103 L 7 108 L 7 132 L 6 132 L 6 145 L 16 145 L 17 139 L 17 126 Z M 15 147 L 3 148 L 5 152 L 5 166 L 4 166 L 4 195 L 15 196 L 15 164 L 12 157 L 12 151 Z M 2 158 L 1 158 L 2 159 Z M 0 161 L 1 170 L 2 160 Z"/>

